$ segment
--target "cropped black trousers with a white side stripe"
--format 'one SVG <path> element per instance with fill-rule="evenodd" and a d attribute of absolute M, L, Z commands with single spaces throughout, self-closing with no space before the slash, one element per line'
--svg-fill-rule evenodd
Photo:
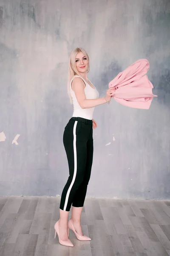
<path fill-rule="evenodd" d="M 93 122 L 72 117 L 65 126 L 63 143 L 68 159 L 69 177 L 62 191 L 60 209 L 83 207 L 93 162 Z"/>

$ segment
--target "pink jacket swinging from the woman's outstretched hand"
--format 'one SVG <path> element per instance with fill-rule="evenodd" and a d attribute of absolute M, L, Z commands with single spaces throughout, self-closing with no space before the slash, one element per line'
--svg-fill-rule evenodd
<path fill-rule="evenodd" d="M 139 59 L 132 65 L 120 72 L 110 83 L 110 87 L 115 87 L 116 91 L 113 99 L 130 108 L 149 109 L 153 97 L 153 84 L 147 78 L 149 61 Z"/>

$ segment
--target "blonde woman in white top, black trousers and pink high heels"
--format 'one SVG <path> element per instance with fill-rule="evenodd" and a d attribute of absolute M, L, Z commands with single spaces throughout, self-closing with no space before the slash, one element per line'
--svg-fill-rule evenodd
<path fill-rule="evenodd" d="M 80 224 L 82 207 L 85 201 L 93 161 L 93 119 L 94 107 L 111 101 L 115 89 L 110 88 L 106 96 L 99 98 L 96 87 L 88 80 L 89 58 L 84 49 L 76 48 L 69 58 L 68 95 L 73 103 L 74 113 L 65 127 L 63 143 L 68 159 L 69 177 L 62 191 L 60 218 L 54 225 L 59 243 L 74 246 L 68 239 L 71 229 L 77 239 L 91 240 L 82 234 Z M 72 204 L 72 215 L 68 213 Z"/>

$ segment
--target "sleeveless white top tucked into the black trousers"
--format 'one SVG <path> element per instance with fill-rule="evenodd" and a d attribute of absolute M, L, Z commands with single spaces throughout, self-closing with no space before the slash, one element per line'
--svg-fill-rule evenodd
<path fill-rule="evenodd" d="M 74 76 L 74 77 L 80 77 L 84 82 L 85 82 L 85 96 L 86 99 L 98 99 L 99 98 L 99 92 L 95 88 L 92 88 L 81 76 Z M 71 79 L 71 83 L 74 79 L 74 77 Z M 93 108 L 81 108 L 77 98 L 75 96 L 74 90 L 71 88 L 71 83 L 70 83 L 70 94 L 73 99 L 73 107 L 74 107 L 74 112 L 72 117 L 82 117 L 85 119 L 92 120 L 93 119 L 93 112 L 94 112 L 94 107 Z"/>

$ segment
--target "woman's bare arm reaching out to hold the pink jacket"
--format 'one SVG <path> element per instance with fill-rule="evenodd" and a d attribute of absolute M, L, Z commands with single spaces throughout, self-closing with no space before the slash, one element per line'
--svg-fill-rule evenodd
<path fill-rule="evenodd" d="M 108 102 L 110 102 L 111 96 L 113 95 L 110 94 L 110 92 L 113 93 L 115 91 L 114 88 L 110 88 L 107 90 L 106 97 L 102 97 L 99 99 L 86 99 L 84 89 L 84 81 L 79 77 L 75 77 L 72 81 L 72 90 L 74 90 L 75 96 L 81 108 L 93 108 L 95 106 L 106 103 L 106 99 Z"/>

